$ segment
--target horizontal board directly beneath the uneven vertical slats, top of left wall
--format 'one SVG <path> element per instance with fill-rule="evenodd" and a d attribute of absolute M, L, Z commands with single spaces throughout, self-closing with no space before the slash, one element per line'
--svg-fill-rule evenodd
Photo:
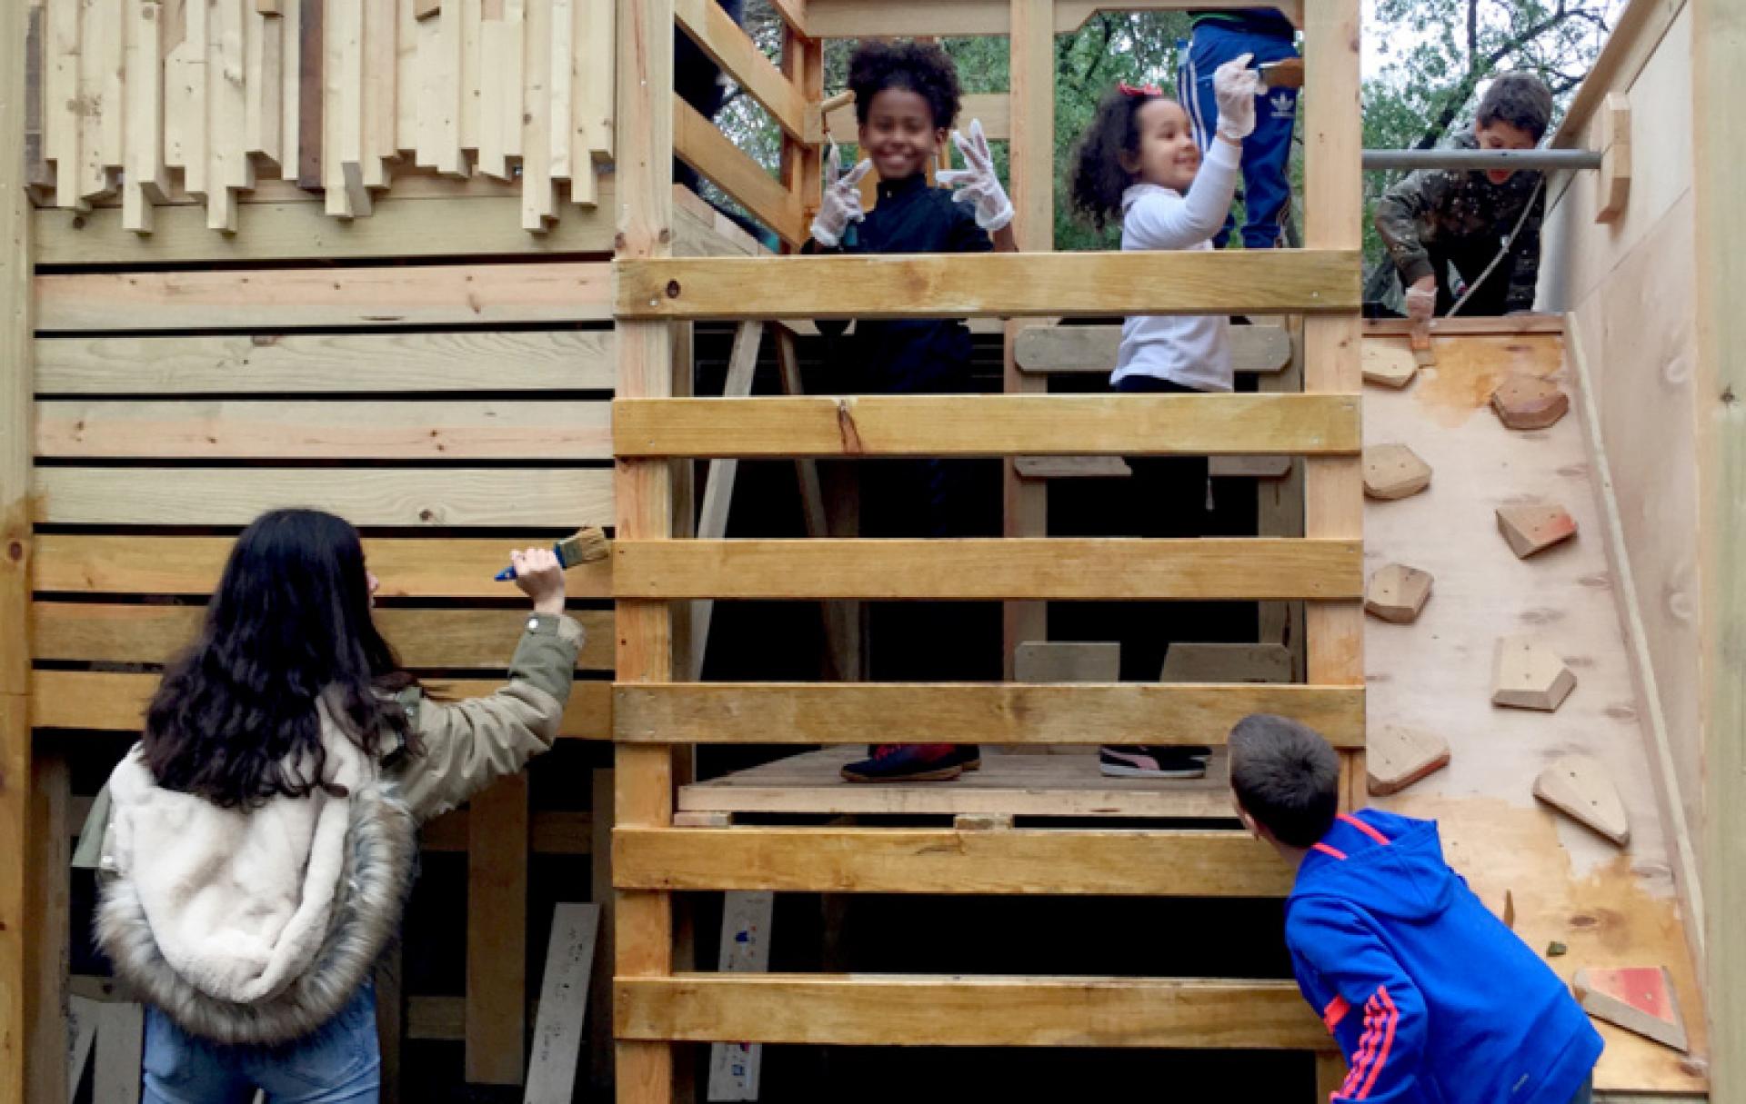
<path fill-rule="evenodd" d="M 545 234 L 522 230 L 520 195 L 430 202 L 388 194 L 368 218 L 351 221 L 330 218 L 320 202 L 250 202 L 237 204 L 236 234 L 213 234 L 201 204 L 154 208 L 150 234 L 124 234 L 120 208 L 38 208 L 33 256 L 38 265 L 147 265 L 611 253 L 613 178 L 604 176 L 599 188 L 599 206 L 566 208 Z"/>

